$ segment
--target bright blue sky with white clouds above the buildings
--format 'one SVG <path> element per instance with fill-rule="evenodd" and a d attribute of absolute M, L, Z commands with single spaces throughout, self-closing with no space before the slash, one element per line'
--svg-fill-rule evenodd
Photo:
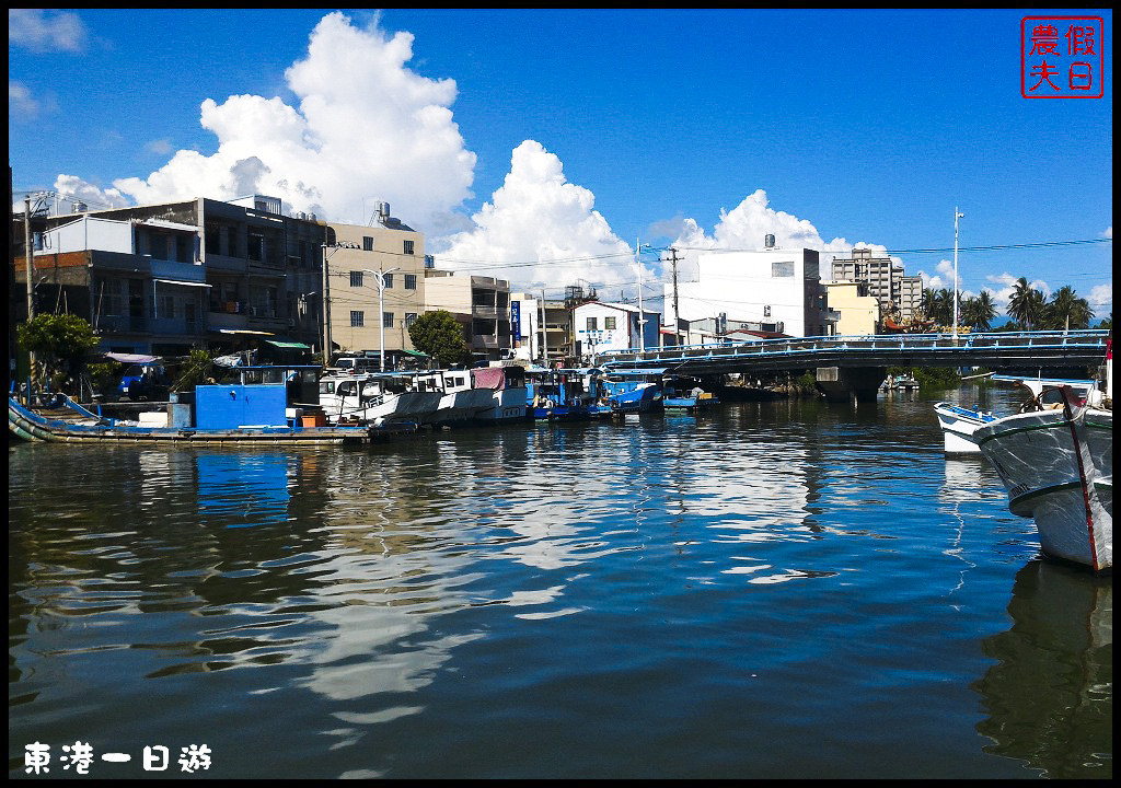
<path fill-rule="evenodd" d="M 1104 98 L 1022 98 L 1048 13 L 1104 19 Z M 16 10 L 9 163 L 17 200 L 91 207 L 385 200 L 442 267 L 601 297 L 633 295 L 638 240 L 765 232 L 948 287 L 957 206 L 963 290 L 1023 276 L 1104 317 L 1111 41 L 1109 10 Z"/>

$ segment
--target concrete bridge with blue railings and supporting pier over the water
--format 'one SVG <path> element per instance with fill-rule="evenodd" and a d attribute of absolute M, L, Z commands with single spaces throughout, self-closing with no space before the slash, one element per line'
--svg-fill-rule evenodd
<path fill-rule="evenodd" d="M 1028 331 L 991 334 L 800 336 L 744 344 L 615 351 L 596 359 L 610 371 L 665 371 L 710 378 L 729 373 L 814 371 L 834 400 L 876 398 L 888 367 L 985 367 L 1045 370 L 1097 367 L 1110 331 Z"/>

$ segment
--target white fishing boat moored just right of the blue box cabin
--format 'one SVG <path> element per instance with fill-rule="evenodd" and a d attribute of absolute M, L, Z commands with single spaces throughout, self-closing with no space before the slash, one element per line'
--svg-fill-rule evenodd
<path fill-rule="evenodd" d="M 442 388 L 408 374 L 331 373 L 319 379 L 319 407 L 331 424 L 425 424 L 443 397 Z"/>

